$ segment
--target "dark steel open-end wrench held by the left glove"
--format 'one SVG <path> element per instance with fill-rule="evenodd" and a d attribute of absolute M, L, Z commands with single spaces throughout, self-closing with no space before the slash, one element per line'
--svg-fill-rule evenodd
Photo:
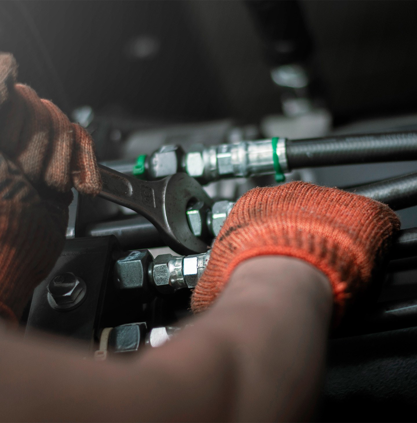
<path fill-rule="evenodd" d="M 160 181 L 142 181 L 99 165 L 103 187 L 99 196 L 142 214 L 177 253 L 197 254 L 209 249 L 197 238 L 187 222 L 187 206 L 203 201 L 211 208 L 213 201 L 201 185 L 186 173 L 176 173 Z"/>

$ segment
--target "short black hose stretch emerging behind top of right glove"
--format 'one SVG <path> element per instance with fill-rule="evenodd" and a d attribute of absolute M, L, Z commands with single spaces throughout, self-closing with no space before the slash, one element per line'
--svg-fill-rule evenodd
<path fill-rule="evenodd" d="M 349 188 L 346 191 L 381 201 L 393 210 L 406 209 L 417 205 L 417 172 Z"/>

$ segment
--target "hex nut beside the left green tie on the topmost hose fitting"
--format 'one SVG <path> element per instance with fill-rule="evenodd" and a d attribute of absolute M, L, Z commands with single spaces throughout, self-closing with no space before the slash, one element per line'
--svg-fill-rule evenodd
<path fill-rule="evenodd" d="M 177 173 L 181 168 L 183 157 L 184 150 L 180 146 L 162 146 L 149 157 L 150 179 L 165 178 Z"/>

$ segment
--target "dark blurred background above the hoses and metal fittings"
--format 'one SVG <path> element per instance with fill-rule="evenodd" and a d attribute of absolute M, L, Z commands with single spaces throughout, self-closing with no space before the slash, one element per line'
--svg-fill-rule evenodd
<path fill-rule="evenodd" d="M 2 1 L 0 49 L 66 111 L 155 122 L 277 113 L 270 70 L 302 63 L 338 125 L 417 110 L 416 17 L 414 1 Z"/>

